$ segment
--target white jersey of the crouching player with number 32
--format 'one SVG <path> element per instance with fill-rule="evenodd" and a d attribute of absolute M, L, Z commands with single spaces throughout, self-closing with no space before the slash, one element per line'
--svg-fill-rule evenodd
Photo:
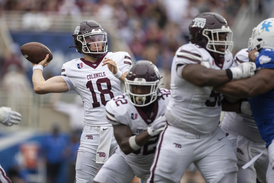
<path fill-rule="evenodd" d="M 106 104 L 107 118 L 112 124 L 124 124 L 130 127 L 132 135 L 138 135 L 147 130 L 148 125 L 155 119 L 163 116 L 166 111 L 166 106 L 171 98 L 169 89 L 160 88 L 158 99 L 154 102 L 154 112 L 150 118 L 140 110 L 140 108 L 132 105 L 128 100 L 126 94 L 118 96 L 110 100 Z M 135 164 L 139 167 L 150 167 L 153 161 L 158 137 L 152 137 L 139 150 L 125 155 L 120 147 L 116 149 L 115 153 L 119 153 L 127 162 Z"/>

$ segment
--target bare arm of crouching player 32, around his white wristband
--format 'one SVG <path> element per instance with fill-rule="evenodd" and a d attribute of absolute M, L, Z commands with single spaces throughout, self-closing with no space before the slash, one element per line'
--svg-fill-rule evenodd
<path fill-rule="evenodd" d="M 119 144 L 121 150 L 125 154 L 134 152 L 135 150 L 130 147 L 128 141 L 128 139 L 132 136 L 129 126 L 123 124 L 113 125 L 113 130 L 115 139 Z M 150 138 L 151 136 L 148 134 L 147 130 L 145 130 L 141 134 L 136 135 L 135 141 L 139 146 L 144 146 Z"/>

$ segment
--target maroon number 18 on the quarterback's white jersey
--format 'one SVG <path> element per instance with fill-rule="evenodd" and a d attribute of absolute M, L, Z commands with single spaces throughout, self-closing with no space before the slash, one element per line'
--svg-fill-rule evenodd
<path fill-rule="evenodd" d="M 107 89 L 102 89 L 102 85 L 101 85 L 102 83 L 106 83 Z M 114 98 L 114 94 L 110 91 L 111 90 L 110 80 L 107 77 L 97 79 L 96 85 L 97 85 L 98 91 L 100 92 L 101 103 L 105 106 L 108 100 L 106 101 L 104 94 L 109 94 L 111 99 Z M 96 93 L 94 92 L 92 81 L 88 81 L 86 83 L 86 88 L 89 88 L 92 95 L 92 100 L 93 100 L 92 107 L 93 108 L 100 107 L 100 102 L 97 101 L 97 97 L 96 97 Z"/>

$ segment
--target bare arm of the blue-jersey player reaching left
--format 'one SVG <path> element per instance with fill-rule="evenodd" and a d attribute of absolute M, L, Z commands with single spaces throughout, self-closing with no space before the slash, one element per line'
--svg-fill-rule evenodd
<path fill-rule="evenodd" d="M 227 96 L 250 98 L 265 94 L 274 88 L 274 69 L 261 69 L 252 77 L 213 87 Z"/>

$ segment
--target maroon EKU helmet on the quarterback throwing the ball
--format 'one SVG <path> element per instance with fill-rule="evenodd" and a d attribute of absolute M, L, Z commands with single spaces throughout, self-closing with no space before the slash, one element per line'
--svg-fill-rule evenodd
<path fill-rule="evenodd" d="M 98 58 L 108 51 L 107 33 L 96 21 L 83 21 L 76 27 L 72 36 L 79 53 Z M 102 44 L 102 49 L 99 44 Z M 90 45 L 94 45 L 94 50 L 90 50 Z"/>

